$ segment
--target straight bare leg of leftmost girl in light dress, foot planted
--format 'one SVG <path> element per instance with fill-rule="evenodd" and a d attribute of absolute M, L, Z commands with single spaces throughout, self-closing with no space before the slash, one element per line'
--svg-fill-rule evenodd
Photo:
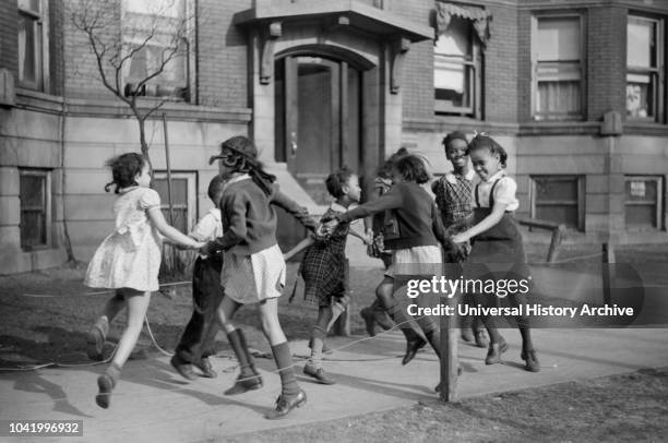
<path fill-rule="evenodd" d="M 123 297 L 128 303 L 128 325 L 118 343 L 111 364 L 97 379 L 99 393 L 95 397 L 95 402 L 105 409 L 109 407 L 111 391 L 118 382 L 120 371 L 136 345 L 151 301 L 151 292 L 141 292 L 129 288 L 123 289 Z"/>

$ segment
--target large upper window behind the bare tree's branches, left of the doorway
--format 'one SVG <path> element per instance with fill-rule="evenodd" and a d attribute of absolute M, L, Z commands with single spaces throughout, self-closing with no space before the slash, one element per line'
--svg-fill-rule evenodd
<path fill-rule="evenodd" d="M 123 0 L 123 50 L 134 52 L 123 64 L 127 96 L 135 93 L 190 100 L 190 21 L 186 3 L 186 0 Z M 139 83 L 153 75 L 136 91 Z"/>

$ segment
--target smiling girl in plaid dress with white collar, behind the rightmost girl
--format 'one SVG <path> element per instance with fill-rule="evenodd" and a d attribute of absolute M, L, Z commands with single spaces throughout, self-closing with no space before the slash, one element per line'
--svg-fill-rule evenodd
<path fill-rule="evenodd" d="M 445 157 L 452 164 L 452 172 L 431 183 L 431 190 L 436 194 L 437 205 L 441 214 L 443 227 L 449 236 L 463 232 L 473 223 L 473 180 L 475 172 L 468 167 L 468 141 L 466 135 L 460 131 L 454 131 L 443 139 Z M 463 243 L 462 252 L 467 255 L 470 251 L 470 243 Z M 445 274 L 458 276 L 462 274 L 462 265 L 453 256 L 445 256 L 444 262 L 449 263 Z M 469 295 L 464 295 L 465 303 L 473 304 L 474 300 Z M 485 331 L 480 319 L 473 315 L 461 318 L 460 327 L 464 342 L 474 342 L 480 348 L 488 345 Z M 473 333 L 472 333 L 473 330 Z"/>

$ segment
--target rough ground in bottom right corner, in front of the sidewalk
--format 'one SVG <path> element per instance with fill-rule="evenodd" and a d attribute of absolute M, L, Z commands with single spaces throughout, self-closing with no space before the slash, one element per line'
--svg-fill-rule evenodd
<path fill-rule="evenodd" d="M 513 391 L 230 438 L 229 442 L 660 442 L 668 370 Z"/>

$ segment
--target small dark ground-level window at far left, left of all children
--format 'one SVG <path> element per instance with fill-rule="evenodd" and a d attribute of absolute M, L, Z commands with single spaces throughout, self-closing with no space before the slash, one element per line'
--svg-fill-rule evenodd
<path fill-rule="evenodd" d="M 48 247 L 51 237 L 51 178 L 44 169 L 20 170 L 21 248 Z"/>

